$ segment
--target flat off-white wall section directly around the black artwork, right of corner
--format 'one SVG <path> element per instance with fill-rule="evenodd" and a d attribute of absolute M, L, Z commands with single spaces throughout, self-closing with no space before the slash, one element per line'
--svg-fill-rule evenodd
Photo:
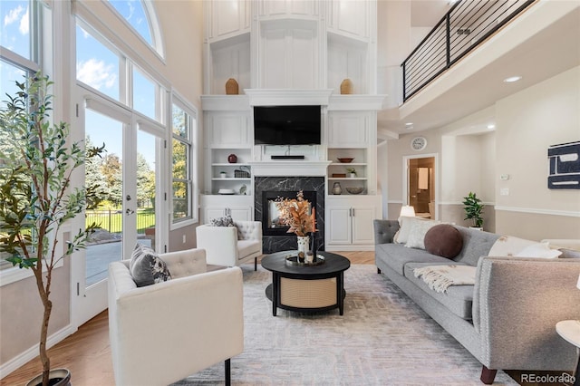
<path fill-rule="evenodd" d="M 547 148 L 580 140 L 580 67 L 497 102 L 498 231 L 579 238 L 580 190 L 547 188 Z M 499 189 L 509 195 L 499 195 Z M 522 221 L 525 218 L 525 221 Z"/>

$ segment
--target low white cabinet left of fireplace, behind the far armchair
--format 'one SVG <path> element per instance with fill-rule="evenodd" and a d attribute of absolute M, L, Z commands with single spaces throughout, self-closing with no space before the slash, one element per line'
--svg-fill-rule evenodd
<path fill-rule="evenodd" d="M 251 221 L 254 219 L 253 197 L 237 196 L 201 196 L 202 224 L 208 224 L 212 218 L 231 216 L 234 221 Z"/>

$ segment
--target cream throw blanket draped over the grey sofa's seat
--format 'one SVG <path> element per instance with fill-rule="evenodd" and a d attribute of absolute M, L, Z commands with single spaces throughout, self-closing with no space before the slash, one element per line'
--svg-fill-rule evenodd
<path fill-rule="evenodd" d="M 429 265 L 413 269 L 430 289 L 446 293 L 449 285 L 475 285 L 476 267 L 471 265 Z"/>

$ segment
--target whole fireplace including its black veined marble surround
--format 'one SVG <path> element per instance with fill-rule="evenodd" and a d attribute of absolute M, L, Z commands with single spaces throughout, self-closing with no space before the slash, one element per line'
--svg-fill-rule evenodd
<path fill-rule="evenodd" d="M 262 221 L 262 249 L 265 254 L 297 249 L 295 234 L 287 233 L 287 227 L 272 227 L 277 212 L 268 211 L 274 205 L 270 201 L 278 197 L 296 198 L 299 190 L 304 192 L 304 199 L 316 208 L 318 232 L 314 238 L 317 249 L 324 251 L 324 177 L 256 176 L 254 184 L 254 218 Z"/>

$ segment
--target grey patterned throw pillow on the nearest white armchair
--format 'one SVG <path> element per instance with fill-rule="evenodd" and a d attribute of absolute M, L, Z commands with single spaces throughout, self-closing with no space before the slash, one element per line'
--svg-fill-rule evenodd
<path fill-rule="evenodd" d="M 138 287 L 166 282 L 171 279 L 169 269 L 160 256 L 149 246 L 139 243 L 133 249 L 129 270 Z"/>

